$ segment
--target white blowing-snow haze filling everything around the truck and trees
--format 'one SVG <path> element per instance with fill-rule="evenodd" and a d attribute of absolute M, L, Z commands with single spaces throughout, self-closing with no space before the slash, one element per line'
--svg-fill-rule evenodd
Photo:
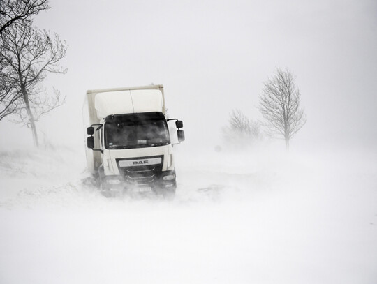
<path fill-rule="evenodd" d="M 66 104 L 42 147 L 0 121 L 1 283 L 376 283 L 376 1 L 50 1 L 69 45 Z M 295 73 L 305 126 L 228 148 L 233 109 L 261 119 L 263 82 Z M 91 184 L 88 89 L 163 84 L 177 196 L 105 198 Z M 221 150 L 221 151 L 220 151 Z"/>

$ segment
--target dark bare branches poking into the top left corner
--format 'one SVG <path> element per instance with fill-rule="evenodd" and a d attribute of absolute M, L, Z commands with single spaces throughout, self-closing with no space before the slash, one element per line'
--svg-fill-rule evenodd
<path fill-rule="evenodd" d="M 48 8 L 48 0 L 0 0 L 0 33 L 15 22 L 30 21 L 31 15 Z"/>

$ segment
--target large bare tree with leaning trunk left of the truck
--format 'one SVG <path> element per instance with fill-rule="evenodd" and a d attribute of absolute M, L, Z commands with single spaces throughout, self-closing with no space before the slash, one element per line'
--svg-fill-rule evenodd
<path fill-rule="evenodd" d="M 36 121 L 64 103 L 58 91 L 48 96 L 41 83 L 48 73 L 66 73 L 66 68 L 59 66 L 66 50 L 66 42 L 61 42 L 57 34 L 51 36 L 27 21 L 12 24 L 1 33 L 1 58 L 6 61 L 1 80 L 12 86 L 8 97 L 15 98 L 13 113 L 31 128 L 37 147 Z"/>

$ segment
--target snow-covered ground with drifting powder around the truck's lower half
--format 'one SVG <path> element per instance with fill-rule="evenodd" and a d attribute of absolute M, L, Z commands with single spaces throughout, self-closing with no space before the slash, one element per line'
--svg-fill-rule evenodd
<path fill-rule="evenodd" d="M 376 153 L 178 150 L 172 202 L 0 151 L 0 283 L 377 283 Z"/>

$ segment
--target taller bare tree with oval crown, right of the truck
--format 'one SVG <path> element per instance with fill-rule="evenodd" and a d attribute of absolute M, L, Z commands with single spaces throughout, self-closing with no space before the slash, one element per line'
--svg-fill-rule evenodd
<path fill-rule="evenodd" d="M 267 79 L 260 96 L 259 110 L 267 121 L 263 126 L 271 135 L 282 135 L 287 149 L 293 135 L 306 123 L 300 96 L 293 73 L 281 68 L 277 68 L 274 76 Z"/>

